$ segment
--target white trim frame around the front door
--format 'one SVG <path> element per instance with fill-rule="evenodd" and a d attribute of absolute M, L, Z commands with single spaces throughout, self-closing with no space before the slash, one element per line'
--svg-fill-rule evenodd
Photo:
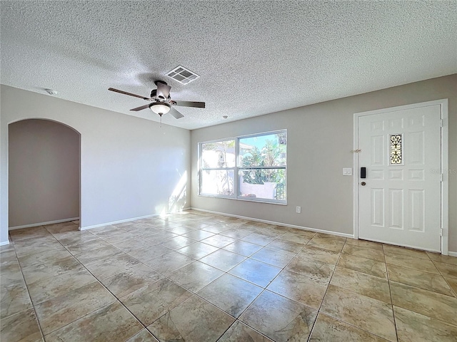
<path fill-rule="evenodd" d="M 421 103 L 413 103 L 411 105 L 400 105 L 398 107 L 383 108 L 378 110 L 368 110 L 366 112 L 354 113 L 354 130 L 353 130 L 353 235 L 354 239 L 358 239 L 360 222 L 359 222 L 359 192 L 358 192 L 358 173 L 359 173 L 359 157 L 358 157 L 358 140 L 359 140 L 359 125 L 358 119 L 362 116 L 376 115 L 395 112 L 398 110 L 406 110 L 413 108 L 428 107 L 431 105 L 441 105 L 441 254 L 448 255 L 448 226 L 449 226 L 449 175 L 446 170 L 449 168 L 449 143 L 448 143 L 448 99 L 433 100 Z"/>

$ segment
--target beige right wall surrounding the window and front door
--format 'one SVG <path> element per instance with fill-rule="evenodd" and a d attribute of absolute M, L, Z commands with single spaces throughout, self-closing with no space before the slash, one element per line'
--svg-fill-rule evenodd
<path fill-rule="evenodd" d="M 353 114 L 448 98 L 449 250 L 457 252 L 457 74 L 191 131 L 191 206 L 215 212 L 353 234 Z M 288 205 L 201 197 L 198 142 L 288 130 Z M 301 206 L 301 214 L 296 214 Z"/>

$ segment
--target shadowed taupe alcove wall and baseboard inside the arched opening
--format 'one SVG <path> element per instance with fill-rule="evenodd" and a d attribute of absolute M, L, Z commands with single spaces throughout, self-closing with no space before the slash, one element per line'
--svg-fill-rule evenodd
<path fill-rule="evenodd" d="M 52 120 L 9 124 L 9 229 L 80 217 L 81 135 Z"/>

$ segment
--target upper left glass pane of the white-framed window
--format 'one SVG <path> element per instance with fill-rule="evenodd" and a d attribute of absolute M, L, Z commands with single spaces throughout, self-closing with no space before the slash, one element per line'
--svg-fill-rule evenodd
<path fill-rule="evenodd" d="M 235 167 L 235 140 L 201 144 L 201 167 Z"/>

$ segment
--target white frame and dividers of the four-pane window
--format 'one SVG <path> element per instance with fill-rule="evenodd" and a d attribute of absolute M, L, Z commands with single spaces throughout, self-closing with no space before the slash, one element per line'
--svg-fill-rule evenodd
<path fill-rule="evenodd" d="M 278 134 L 278 133 L 286 133 L 287 136 L 287 130 L 273 130 L 273 131 L 268 131 L 268 132 L 263 132 L 263 133 L 255 133 L 255 134 L 250 134 L 250 135 L 240 135 L 236 137 L 231 137 L 231 138 L 221 138 L 217 140 L 207 140 L 207 141 L 202 141 L 199 142 L 198 145 L 198 160 L 199 160 L 199 182 L 198 182 L 198 195 L 202 197 L 216 197 L 216 198 L 226 198 L 226 199 L 238 199 L 241 201 L 248 201 L 248 202 L 261 202 L 261 203 L 271 203 L 271 204 L 282 204 L 286 205 L 287 204 L 287 194 L 288 194 L 288 182 L 287 182 L 287 149 L 286 149 L 286 165 L 281 165 L 281 166 L 266 166 L 266 167 L 242 167 L 241 166 L 241 156 L 240 156 L 240 140 L 241 139 L 246 139 L 246 138 L 255 138 L 255 137 L 261 137 L 263 135 L 273 135 L 273 134 Z M 202 145 L 204 144 L 209 144 L 211 142 L 223 142 L 223 141 L 228 141 L 228 140 L 235 140 L 235 166 L 234 167 L 201 167 L 201 148 Z M 273 170 L 278 170 L 278 169 L 283 169 L 286 171 L 286 185 L 285 185 L 285 191 L 286 191 L 286 199 L 266 199 L 266 198 L 256 198 L 256 197 L 241 197 L 239 195 L 239 177 L 240 177 L 240 171 L 241 170 L 268 170 L 268 169 L 273 169 Z M 202 182 L 202 177 L 201 177 L 201 172 L 203 171 L 209 171 L 209 170 L 233 170 L 233 195 L 214 195 L 214 194 L 206 194 L 201 192 L 201 182 Z"/>

